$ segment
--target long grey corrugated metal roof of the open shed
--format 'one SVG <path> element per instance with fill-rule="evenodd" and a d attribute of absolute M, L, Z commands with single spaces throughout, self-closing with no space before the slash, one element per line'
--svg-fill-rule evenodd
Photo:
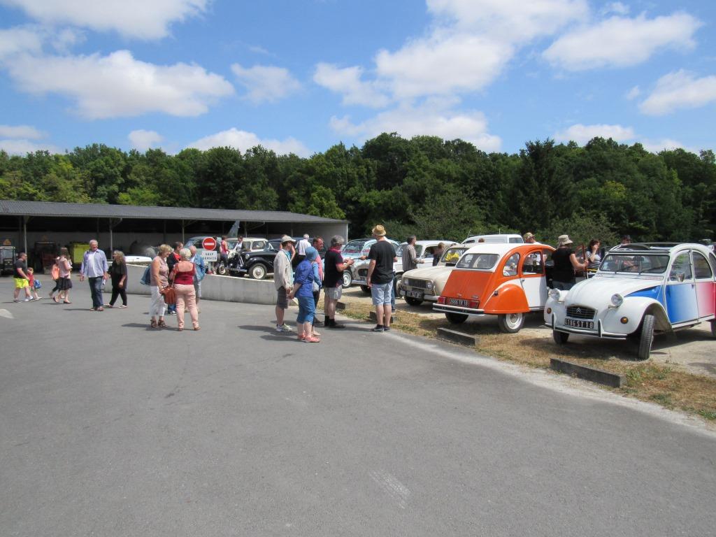
<path fill-rule="evenodd" d="M 153 220 L 209 220 L 287 223 L 348 223 L 287 211 L 236 211 L 188 207 L 143 207 L 140 205 L 102 205 L 99 203 L 54 203 L 48 201 L 0 200 L 0 215 L 57 216 L 74 218 L 147 218 Z"/>

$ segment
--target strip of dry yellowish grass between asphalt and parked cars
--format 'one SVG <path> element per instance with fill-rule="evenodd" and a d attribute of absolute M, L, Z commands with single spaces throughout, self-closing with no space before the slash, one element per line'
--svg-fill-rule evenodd
<path fill-rule="evenodd" d="M 374 308 L 366 297 L 344 300 L 347 307 L 340 313 L 352 319 L 367 320 Z M 683 372 L 654 362 L 634 362 L 632 349 L 624 343 L 623 354 L 615 354 L 614 347 L 594 345 L 557 345 L 551 338 L 535 337 L 520 332 L 502 334 L 497 327 L 474 323 L 455 326 L 447 319 L 428 319 L 423 315 L 399 311 L 392 326 L 402 332 L 431 339 L 439 327 L 458 329 L 466 334 L 479 335 L 475 350 L 496 359 L 548 369 L 549 360 L 559 357 L 570 362 L 604 371 L 623 374 L 627 383 L 621 388 L 603 387 L 627 397 L 655 402 L 669 409 L 678 409 L 706 420 L 716 421 L 716 379 Z M 606 349 L 605 349 L 606 347 Z M 609 350 L 611 348 L 611 350 Z"/>

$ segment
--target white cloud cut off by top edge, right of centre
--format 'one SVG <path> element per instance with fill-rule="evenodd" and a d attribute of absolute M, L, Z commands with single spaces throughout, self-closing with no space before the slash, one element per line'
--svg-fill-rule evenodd
<path fill-rule="evenodd" d="M 586 0 L 427 0 L 427 9 L 450 26 L 510 42 L 553 34 L 589 14 Z"/>

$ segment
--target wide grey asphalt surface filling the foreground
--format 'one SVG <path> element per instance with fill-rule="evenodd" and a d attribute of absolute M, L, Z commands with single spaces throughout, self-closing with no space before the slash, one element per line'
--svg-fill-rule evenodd
<path fill-rule="evenodd" d="M 0 301 L 3 537 L 714 535 L 716 437 L 667 411 L 354 321 L 72 299 Z"/>

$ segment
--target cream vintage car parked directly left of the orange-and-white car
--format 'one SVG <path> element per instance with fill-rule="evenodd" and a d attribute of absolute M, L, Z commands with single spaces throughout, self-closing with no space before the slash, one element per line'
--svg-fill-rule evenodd
<path fill-rule="evenodd" d="M 423 301 L 437 301 L 453 267 L 458 264 L 460 256 L 468 249 L 470 249 L 469 244 L 450 246 L 442 252 L 442 257 L 437 265 L 404 272 L 398 282 L 400 295 L 411 306 L 420 306 Z"/>

